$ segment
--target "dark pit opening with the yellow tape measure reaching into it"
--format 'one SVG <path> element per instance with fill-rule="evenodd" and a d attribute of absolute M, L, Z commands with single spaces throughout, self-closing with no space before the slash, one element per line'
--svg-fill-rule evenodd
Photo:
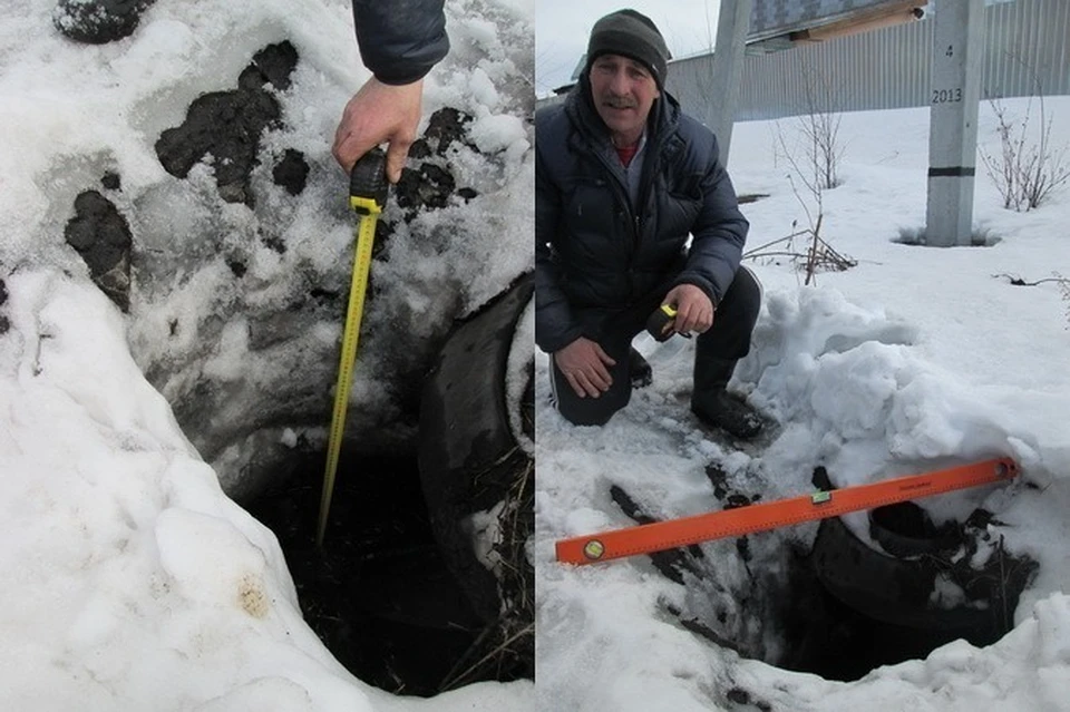
<path fill-rule="evenodd" d="M 522 275 L 455 325 L 424 380 L 405 456 L 343 440 L 322 549 L 322 443 L 298 436 L 281 464 L 261 468 L 271 471 L 245 472 L 266 484 L 239 504 L 279 537 L 310 627 L 390 693 L 534 679 L 534 464 L 509 417 L 516 410 L 529 440 L 534 362 L 521 368 L 524 353 L 514 362 L 510 349 L 533 289 Z M 526 382 L 509 380 L 525 371 Z M 516 397 L 510 383 L 524 383 Z"/>

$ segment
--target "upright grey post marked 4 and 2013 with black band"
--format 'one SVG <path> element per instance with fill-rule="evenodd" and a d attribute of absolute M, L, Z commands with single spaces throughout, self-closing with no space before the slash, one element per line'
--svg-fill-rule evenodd
<path fill-rule="evenodd" d="M 935 14 L 925 238 L 951 247 L 973 234 L 984 0 L 941 2 Z"/>

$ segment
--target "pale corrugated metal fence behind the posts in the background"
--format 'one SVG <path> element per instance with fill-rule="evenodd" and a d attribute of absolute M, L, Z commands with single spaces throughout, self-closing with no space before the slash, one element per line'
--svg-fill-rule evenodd
<path fill-rule="evenodd" d="M 1070 95 L 1070 0 L 985 8 L 982 97 Z M 736 120 L 807 110 L 815 96 L 838 111 L 927 106 L 933 20 L 745 58 Z M 674 61 L 667 86 L 685 110 L 709 96 L 711 55 Z M 815 91 L 815 89 L 817 89 Z"/>

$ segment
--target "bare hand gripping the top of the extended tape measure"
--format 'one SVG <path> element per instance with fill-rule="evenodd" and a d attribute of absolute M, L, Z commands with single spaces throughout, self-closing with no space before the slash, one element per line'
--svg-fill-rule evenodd
<path fill-rule="evenodd" d="M 401 86 L 382 84 L 374 77 L 366 81 L 346 105 L 334 131 L 331 153 L 346 173 L 352 172 L 353 164 L 366 153 L 389 142 L 387 179 L 400 181 L 409 147 L 416 140 L 422 97 L 422 79 Z"/>

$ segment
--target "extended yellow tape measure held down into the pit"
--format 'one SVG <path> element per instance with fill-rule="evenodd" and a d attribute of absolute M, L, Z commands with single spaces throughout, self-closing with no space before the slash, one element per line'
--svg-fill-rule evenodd
<path fill-rule="evenodd" d="M 364 313 L 368 273 L 371 270 L 371 248 L 376 241 L 376 223 L 387 202 L 386 154 L 374 149 L 353 166 L 349 183 L 349 205 L 360 215 L 357 226 L 357 248 L 353 255 L 353 275 L 349 286 L 349 306 L 342 331 L 342 353 L 338 361 L 338 383 L 334 387 L 334 411 L 331 416 L 330 439 L 327 447 L 327 468 L 323 475 L 323 495 L 320 498 L 320 520 L 315 529 L 315 545 L 323 546 L 327 517 L 334 494 L 338 455 L 346 430 L 349 390 L 353 383 L 353 361 L 360 338 L 360 320 Z"/>

